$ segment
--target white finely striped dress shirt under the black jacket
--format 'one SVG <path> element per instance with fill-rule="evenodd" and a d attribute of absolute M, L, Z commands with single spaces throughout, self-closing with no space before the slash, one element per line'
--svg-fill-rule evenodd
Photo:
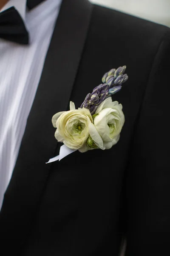
<path fill-rule="evenodd" d="M 17 160 L 40 81 L 61 0 L 46 0 L 30 11 L 26 0 L 10 0 L 29 32 L 29 45 L 0 38 L 0 208 Z"/>

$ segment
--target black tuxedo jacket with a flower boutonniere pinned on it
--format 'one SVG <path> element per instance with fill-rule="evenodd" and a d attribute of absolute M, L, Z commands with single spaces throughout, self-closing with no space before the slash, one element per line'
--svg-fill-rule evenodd
<path fill-rule="evenodd" d="M 62 1 L 0 212 L 1 255 L 118 256 L 123 236 L 126 256 L 169 253 L 169 63 L 167 27 Z M 119 143 L 45 164 L 60 147 L 51 117 L 123 65 Z"/>

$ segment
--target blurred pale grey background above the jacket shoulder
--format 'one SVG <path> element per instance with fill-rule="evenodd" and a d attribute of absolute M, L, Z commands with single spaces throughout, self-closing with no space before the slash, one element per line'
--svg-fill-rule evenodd
<path fill-rule="evenodd" d="M 91 2 L 170 27 L 170 0 L 91 0 Z"/>

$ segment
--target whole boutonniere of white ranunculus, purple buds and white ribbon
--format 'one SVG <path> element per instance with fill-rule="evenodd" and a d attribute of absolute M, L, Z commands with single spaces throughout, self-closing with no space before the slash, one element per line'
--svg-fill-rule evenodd
<path fill-rule="evenodd" d="M 55 138 L 64 143 L 59 155 L 48 163 L 61 160 L 78 150 L 83 153 L 92 149 L 110 149 L 119 141 L 125 122 L 122 104 L 112 101 L 111 96 L 127 81 L 126 66 L 111 69 L 102 77 L 102 84 L 88 93 L 80 108 L 70 102 L 70 110 L 56 113 L 52 124 L 56 129 Z"/>

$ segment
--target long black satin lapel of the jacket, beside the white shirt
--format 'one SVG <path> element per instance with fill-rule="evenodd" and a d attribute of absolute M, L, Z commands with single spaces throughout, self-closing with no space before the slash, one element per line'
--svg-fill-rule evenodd
<path fill-rule="evenodd" d="M 67 110 L 91 17 L 86 0 L 63 0 L 28 116 L 20 152 L 0 213 L 0 230 L 13 246 L 26 240 L 51 169 L 57 141 L 51 118 Z M 17 230 L 17 233 L 16 233 Z M 14 249 L 14 247 L 13 247 Z"/>

